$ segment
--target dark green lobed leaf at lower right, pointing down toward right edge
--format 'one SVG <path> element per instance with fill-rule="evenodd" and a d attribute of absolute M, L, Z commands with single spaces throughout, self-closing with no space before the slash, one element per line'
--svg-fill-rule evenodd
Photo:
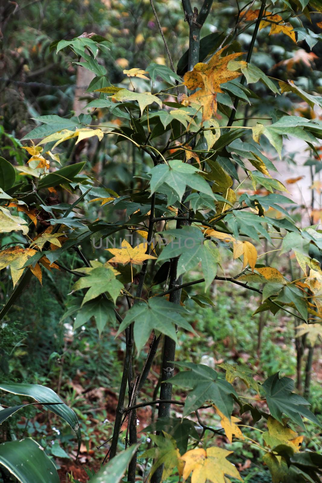
<path fill-rule="evenodd" d="M 295 394 L 294 381 L 289 377 L 280 378 L 279 372 L 266 379 L 262 385 L 268 409 L 271 415 L 283 424 L 282 414 L 285 414 L 294 423 L 305 428 L 301 416 L 321 426 L 314 414 L 308 410 L 309 402 Z"/>

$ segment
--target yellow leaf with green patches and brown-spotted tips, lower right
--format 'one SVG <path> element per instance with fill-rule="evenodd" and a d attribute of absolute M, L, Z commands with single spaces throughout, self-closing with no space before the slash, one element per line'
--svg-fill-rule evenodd
<path fill-rule="evenodd" d="M 271 449 L 280 444 L 286 444 L 294 450 L 294 453 L 300 451 L 299 448 L 302 444 L 303 436 L 298 436 L 295 431 L 284 424 L 284 421 L 282 424 L 272 416 L 269 416 L 267 429 L 268 431 L 263 434 L 263 439 Z"/>

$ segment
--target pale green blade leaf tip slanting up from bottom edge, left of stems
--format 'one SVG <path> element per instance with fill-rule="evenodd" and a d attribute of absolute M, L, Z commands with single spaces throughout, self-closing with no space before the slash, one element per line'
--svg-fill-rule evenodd
<path fill-rule="evenodd" d="M 140 445 L 131 446 L 119 455 L 115 456 L 106 466 L 91 478 L 91 483 L 119 483 L 125 473 L 127 465 Z"/>

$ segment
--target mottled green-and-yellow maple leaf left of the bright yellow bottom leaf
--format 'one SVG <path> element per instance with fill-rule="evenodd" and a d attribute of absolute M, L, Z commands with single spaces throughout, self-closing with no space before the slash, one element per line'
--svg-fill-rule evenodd
<path fill-rule="evenodd" d="M 180 478 L 183 472 L 183 461 L 180 457 L 179 449 L 177 448 L 176 440 L 165 431 L 162 431 L 163 436 L 156 436 L 150 434 L 151 440 L 156 444 L 155 448 L 145 451 L 141 458 L 154 458 L 153 467 L 149 477 L 151 478 L 155 470 L 159 466 L 164 465 L 161 480 L 166 480 L 172 473 L 174 468 L 178 468 Z"/>

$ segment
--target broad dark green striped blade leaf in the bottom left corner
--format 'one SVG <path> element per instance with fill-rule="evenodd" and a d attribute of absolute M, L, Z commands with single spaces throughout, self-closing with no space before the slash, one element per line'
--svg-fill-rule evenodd
<path fill-rule="evenodd" d="M 31 438 L 0 444 L 0 466 L 21 483 L 59 483 L 54 463 Z"/>

